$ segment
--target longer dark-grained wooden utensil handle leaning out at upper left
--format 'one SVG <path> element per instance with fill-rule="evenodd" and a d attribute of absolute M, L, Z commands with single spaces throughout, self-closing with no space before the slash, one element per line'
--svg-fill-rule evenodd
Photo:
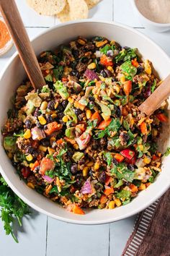
<path fill-rule="evenodd" d="M 42 88 L 45 80 L 42 76 L 35 52 L 24 28 L 17 5 L 14 0 L 0 0 L 0 11 L 6 22 L 9 33 L 19 53 L 24 69 L 35 89 Z M 17 68 L 17 67 L 16 67 Z"/>

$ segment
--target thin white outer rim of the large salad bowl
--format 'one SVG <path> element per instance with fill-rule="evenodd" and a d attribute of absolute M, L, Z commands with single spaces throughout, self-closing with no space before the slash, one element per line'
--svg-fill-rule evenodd
<path fill-rule="evenodd" d="M 53 27 L 50 27 L 48 30 L 42 31 L 40 34 L 36 35 L 35 37 L 33 37 L 31 39 L 31 42 L 33 42 L 34 40 L 36 40 L 37 38 L 40 38 L 41 35 L 44 35 L 45 33 L 48 33 L 49 31 L 55 30 L 58 27 L 66 27 L 69 25 L 76 25 L 76 24 L 81 24 L 81 23 L 102 23 L 102 24 L 106 24 L 106 25 L 117 25 L 118 27 L 122 27 L 125 28 L 126 30 L 130 30 L 131 32 L 140 35 L 141 37 L 145 38 L 146 40 L 148 40 L 148 42 L 152 43 L 154 46 L 156 46 L 156 48 L 158 48 L 158 51 L 160 51 L 160 53 L 162 55 L 164 55 L 164 57 L 166 57 L 166 59 L 169 60 L 170 63 L 170 58 L 169 56 L 165 53 L 165 51 L 161 48 L 161 46 L 158 46 L 153 40 L 151 40 L 150 38 L 148 38 L 148 36 L 144 35 L 143 33 L 140 33 L 138 30 L 135 30 L 132 27 L 128 27 L 127 25 L 122 25 L 118 22 L 108 22 L 108 21 L 104 21 L 104 20 L 76 20 L 73 22 L 65 22 L 65 23 L 61 23 L 59 25 L 55 25 Z M 7 61 L 7 63 L 4 66 L 4 69 L 2 69 L 1 73 L 0 73 L 0 81 L 1 78 L 4 76 L 7 67 L 9 66 L 9 64 L 12 63 L 12 61 L 14 61 L 14 59 L 18 56 L 18 53 L 15 52 L 12 57 L 9 59 L 9 61 Z M 170 184 L 167 185 L 166 187 L 162 187 L 159 190 L 158 195 L 156 195 L 156 197 L 153 197 L 151 200 L 148 200 L 148 202 L 146 202 L 143 205 L 139 205 L 138 208 L 135 208 L 133 210 L 131 210 L 129 213 L 123 213 L 121 216 L 117 216 L 117 217 L 110 217 L 107 219 L 104 219 L 102 221 L 82 221 L 82 220 L 75 220 L 75 219 L 71 219 L 68 217 L 61 217 L 61 216 L 57 216 L 54 213 L 49 213 L 47 210 L 44 210 L 42 208 L 40 208 L 39 206 L 35 205 L 35 203 L 31 202 L 29 199 L 27 199 L 27 197 L 25 197 L 24 195 L 22 195 L 18 190 L 17 187 L 14 186 L 14 184 L 12 184 L 12 182 L 7 178 L 6 176 L 6 172 L 3 170 L 3 168 L 1 168 L 1 163 L 0 163 L 0 172 L 1 175 L 4 176 L 4 179 L 6 180 L 6 182 L 9 184 L 9 187 L 11 187 L 11 189 L 24 201 L 27 203 L 27 205 L 30 205 L 31 208 L 37 210 L 39 213 L 43 213 L 46 216 L 50 216 L 51 218 L 55 218 L 59 221 L 65 221 L 67 223 L 74 223 L 74 224 L 83 224 L 83 225 L 96 225 L 96 224 L 105 224 L 105 223 L 112 223 L 115 221 L 120 221 L 124 218 L 128 218 L 130 216 L 133 216 L 137 213 L 139 213 L 140 211 L 146 209 L 149 205 L 151 205 L 153 202 L 155 202 L 159 197 L 161 197 L 161 195 L 164 194 L 164 192 L 166 192 L 166 190 L 170 187 Z"/>

